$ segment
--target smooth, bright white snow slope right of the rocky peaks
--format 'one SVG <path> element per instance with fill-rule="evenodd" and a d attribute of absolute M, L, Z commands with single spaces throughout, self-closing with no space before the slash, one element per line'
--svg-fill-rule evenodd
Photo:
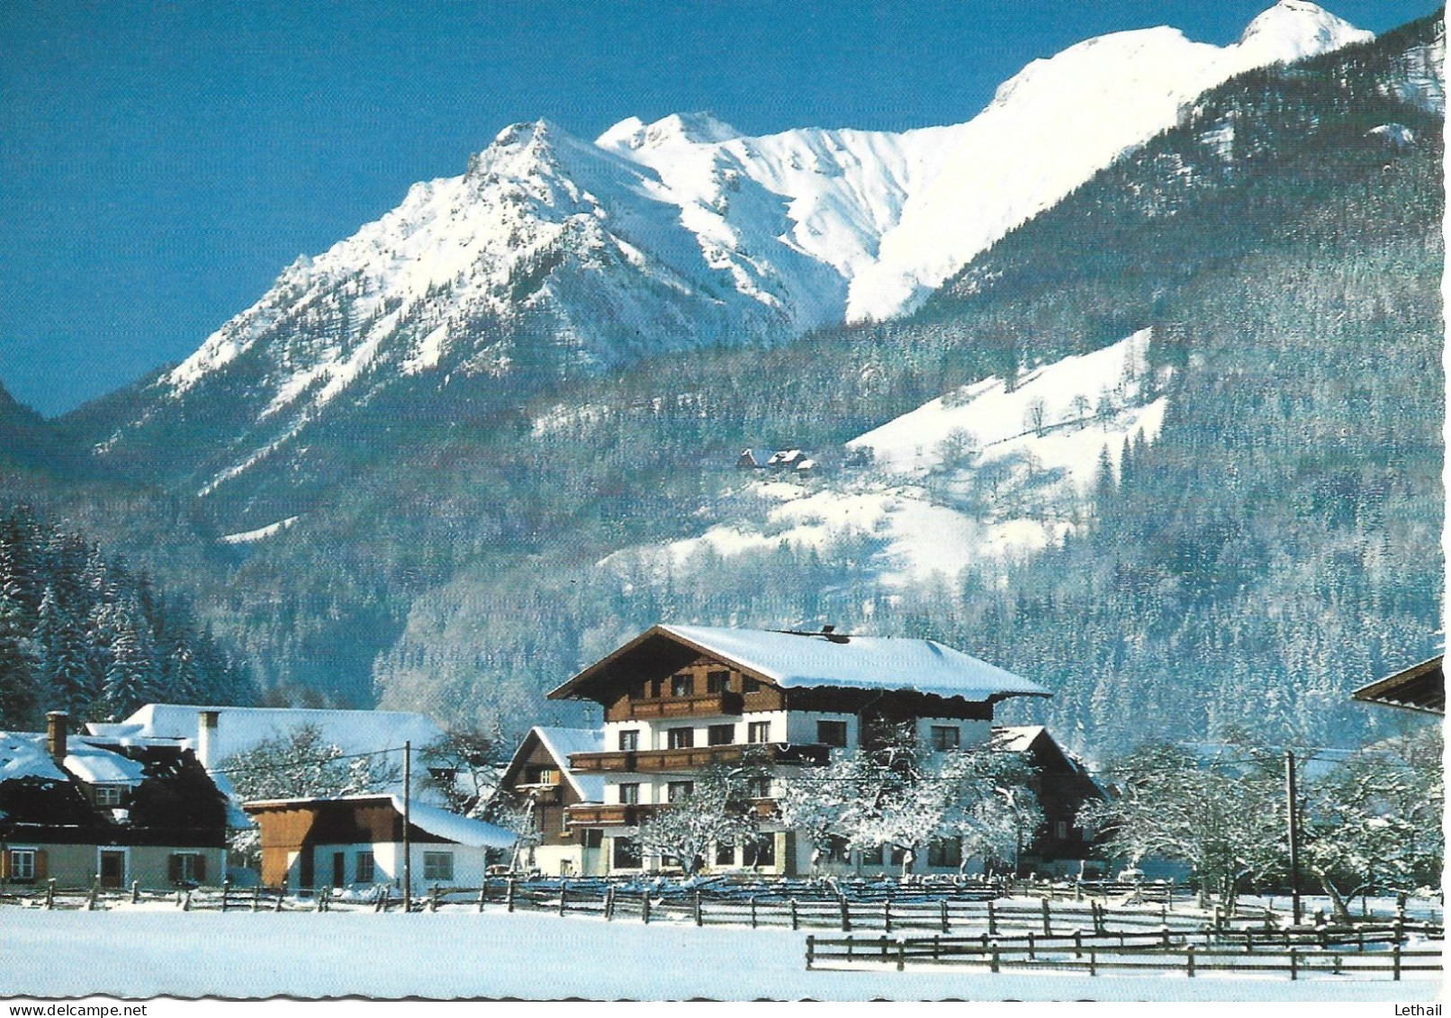
<path fill-rule="evenodd" d="M 847 319 L 885 319 L 1126 149 L 1172 126 L 1226 78 L 1370 39 L 1303 0 L 1281 0 L 1219 48 L 1168 28 L 1088 39 L 1029 64 L 953 136 L 930 181 L 852 280 Z"/>

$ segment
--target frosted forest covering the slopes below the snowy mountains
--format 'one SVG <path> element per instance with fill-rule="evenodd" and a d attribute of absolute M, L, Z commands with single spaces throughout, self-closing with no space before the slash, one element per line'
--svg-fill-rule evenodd
<path fill-rule="evenodd" d="M 524 728 L 577 719 L 543 693 L 675 621 L 937 638 L 1055 689 L 1013 709 L 1094 756 L 1229 727 L 1313 745 L 1380 734 L 1394 722 L 1348 693 L 1435 653 L 1444 596 L 1442 116 L 1396 87 L 1441 30 L 1436 15 L 1212 90 L 907 319 L 596 377 L 541 370 L 503 394 L 490 378 L 447 397 L 393 387 L 316 425 L 306 470 L 258 468 L 210 499 L 178 465 L 205 458 L 177 448 L 186 432 L 125 463 L 89 457 L 142 384 L 54 422 L 12 410 L 9 432 L 0 405 L 0 490 L 84 521 L 196 605 L 193 619 L 141 580 L 68 602 L 96 626 L 131 619 L 144 653 L 97 635 L 109 650 L 65 700 L 73 680 L 33 635 L 64 583 L 29 567 L 0 602 L 0 654 L 26 661 L 32 690 L 6 724 L 58 698 L 87 716 L 163 690 L 245 702 L 255 682 L 279 700 Z M 1139 329 L 1170 368 L 1164 426 L 1103 473 L 1061 544 L 907 589 L 882 582 L 881 538 L 860 531 L 685 563 L 634 551 L 731 522 L 744 447 L 810 450 L 808 483 L 827 487 L 872 470 L 849 439 Z M 51 525 L 16 519 L 39 561 Z M 181 647 L 210 664 L 176 664 Z"/>

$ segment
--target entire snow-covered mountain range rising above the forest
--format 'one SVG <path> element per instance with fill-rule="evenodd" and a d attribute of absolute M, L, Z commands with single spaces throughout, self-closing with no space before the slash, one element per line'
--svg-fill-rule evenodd
<path fill-rule="evenodd" d="M 470 378 L 527 392 L 663 351 L 887 318 L 1200 90 L 1360 38 L 1302 0 L 1223 49 L 1125 32 L 1035 61 L 966 123 L 901 133 L 746 138 L 678 115 L 631 117 L 591 144 L 514 125 L 463 175 L 415 184 L 293 262 L 97 451 L 123 460 L 186 434 L 174 468 L 210 496 L 263 463 L 302 470 L 287 457 L 340 399 L 437 402 Z"/>

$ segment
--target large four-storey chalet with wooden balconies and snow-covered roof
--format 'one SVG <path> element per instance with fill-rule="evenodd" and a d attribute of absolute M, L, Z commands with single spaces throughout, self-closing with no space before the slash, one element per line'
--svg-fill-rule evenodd
<path fill-rule="evenodd" d="M 641 856 L 640 824 L 689 796 L 702 769 L 760 761 L 763 837 L 717 845 L 714 866 L 802 873 L 810 847 L 772 821 L 782 776 L 869 744 L 884 724 L 910 725 L 934 750 L 982 745 L 997 702 L 1049 695 L 932 640 L 657 625 L 550 693 L 604 708 L 604 748 L 569 754 L 570 771 L 602 779 L 602 800 L 564 806 L 566 825 L 582 845 L 599 844 L 582 857 L 585 872 L 653 869 L 660 860 Z"/>

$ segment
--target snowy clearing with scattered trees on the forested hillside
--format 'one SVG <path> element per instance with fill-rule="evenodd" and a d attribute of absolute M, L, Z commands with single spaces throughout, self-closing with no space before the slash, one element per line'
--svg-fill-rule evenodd
<path fill-rule="evenodd" d="M 602 564 L 679 571 L 781 542 L 824 551 L 865 538 L 878 545 L 879 576 L 907 587 L 1056 544 L 1091 513 L 1100 473 L 1117 473 L 1125 445 L 1159 434 L 1170 376 L 1149 368 L 1151 338 L 1142 329 L 1011 387 L 995 377 L 965 386 L 849 441 L 855 467 L 750 481 L 720 508 L 727 522 Z"/>

